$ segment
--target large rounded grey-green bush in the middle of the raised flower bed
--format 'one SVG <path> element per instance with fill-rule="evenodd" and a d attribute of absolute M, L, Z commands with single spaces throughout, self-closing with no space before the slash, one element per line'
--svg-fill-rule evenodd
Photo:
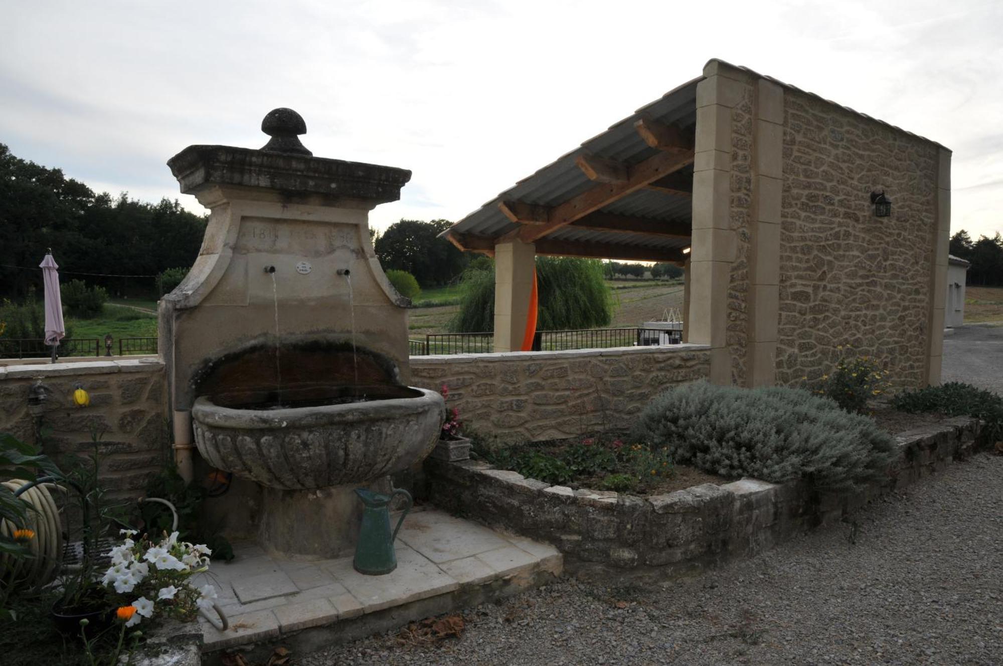
<path fill-rule="evenodd" d="M 780 386 L 674 387 L 648 403 L 633 434 L 667 447 L 676 462 L 721 476 L 804 478 L 830 488 L 884 477 L 896 452 L 872 419 Z"/>

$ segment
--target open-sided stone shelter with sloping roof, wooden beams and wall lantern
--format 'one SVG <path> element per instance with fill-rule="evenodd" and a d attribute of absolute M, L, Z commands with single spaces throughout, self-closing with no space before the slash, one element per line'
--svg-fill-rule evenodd
<path fill-rule="evenodd" d="M 535 255 L 675 262 L 712 381 L 796 383 L 850 344 L 921 386 L 940 381 L 950 176 L 939 143 L 714 59 L 444 236 L 494 256 L 495 351 L 522 348 Z"/>

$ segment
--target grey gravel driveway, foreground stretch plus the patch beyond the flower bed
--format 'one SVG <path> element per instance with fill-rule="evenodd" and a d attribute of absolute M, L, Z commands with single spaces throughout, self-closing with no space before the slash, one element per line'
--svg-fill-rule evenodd
<path fill-rule="evenodd" d="M 1003 327 L 945 338 L 944 379 L 1003 392 Z M 1003 456 L 982 453 L 851 526 L 701 576 L 564 579 L 464 613 L 437 646 L 375 636 L 298 657 L 333 664 L 1003 665 Z"/>

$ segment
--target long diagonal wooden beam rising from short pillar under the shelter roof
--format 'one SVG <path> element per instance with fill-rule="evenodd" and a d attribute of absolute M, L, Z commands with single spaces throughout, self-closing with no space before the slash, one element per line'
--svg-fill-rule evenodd
<path fill-rule="evenodd" d="M 691 163 L 692 149 L 662 150 L 644 161 L 628 166 L 626 181 L 599 183 L 564 204 L 555 206 L 550 210 L 546 224 L 524 226 L 518 230 L 519 238 L 524 243 L 533 243 Z"/>

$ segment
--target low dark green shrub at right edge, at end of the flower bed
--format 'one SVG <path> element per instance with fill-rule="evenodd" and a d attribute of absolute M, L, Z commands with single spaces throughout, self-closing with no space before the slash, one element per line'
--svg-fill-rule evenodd
<path fill-rule="evenodd" d="M 982 434 L 995 442 L 1003 439 L 1003 397 L 971 384 L 949 381 L 917 391 L 904 391 L 892 404 L 901 411 L 933 412 L 948 416 L 975 416 L 986 422 Z"/>

